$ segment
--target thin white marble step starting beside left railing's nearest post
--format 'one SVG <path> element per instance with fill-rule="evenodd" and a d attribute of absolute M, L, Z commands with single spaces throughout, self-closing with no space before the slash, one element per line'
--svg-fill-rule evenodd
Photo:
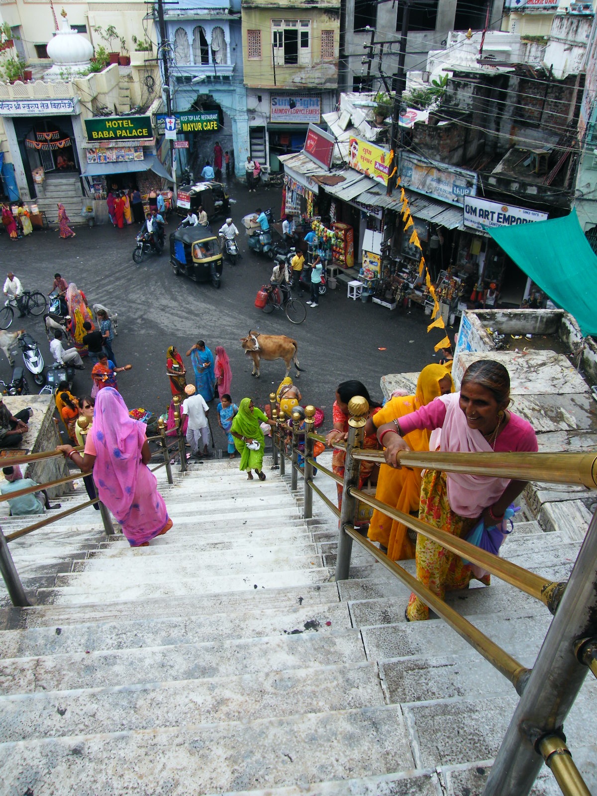
<path fill-rule="evenodd" d="M 327 568 L 313 567 L 310 570 L 289 569 L 275 572 L 240 572 L 233 575 L 214 575 L 211 577 L 197 577 L 176 579 L 173 573 L 170 580 L 155 583 L 149 580 L 146 583 L 136 583 L 135 579 L 125 579 L 123 587 L 119 587 L 119 599 L 136 600 L 147 597 L 162 597 L 171 599 L 189 594 L 218 594 L 222 591 L 248 591 L 255 588 L 281 588 L 287 586 L 308 586 L 316 583 L 326 583 L 330 578 Z M 100 578 L 101 581 L 101 578 Z M 115 589 L 109 583 L 100 583 L 95 590 L 90 591 L 84 583 L 64 586 L 53 589 L 39 589 L 37 596 L 44 602 L 46 599 L 60 601 L 61 603 L 98 603 L 114 599 Z"/>

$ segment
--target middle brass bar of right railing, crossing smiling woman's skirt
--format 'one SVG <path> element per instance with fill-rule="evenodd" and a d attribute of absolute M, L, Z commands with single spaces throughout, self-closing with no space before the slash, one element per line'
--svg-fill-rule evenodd
<path fill-rule="evenodd" d="M 366 505 L 370 505 L 373 509 L 377 509 L 381 513 L 384 513 L 386 517 L 391 517 L 392 520 L 397 520 L 403 523 L 403 525 L 407 525 L 408 528 L 412 528 L 418 533 L 423 533 L 423 536 L 427 537 L 427 539 L 431 539 L 436 544 L 440 544 L 443 548 L 456 553 L 457 556 L 462 556 L 462 558 L 470 561 L 472 564 L 477 564 L 477 566 L 486 569 L 487 572 L 491 572 L 492 575 L 497 576 L 501 580 L 505 580 L 506 583 L 510 583 L 510 585 L 521 589 L 521 591 L 525 591 L 526 594 L 544 603 L 550 611 L 553 606 L 554 594 L 559 594 L 561 596 L 561 587 L 559 583 L 554 583 L 552 580 L 547 580 L 540 575 L 536 575 L 534 572 L 529 572 L 519 567 L 518 564 L 513 564 L 511 561 L 500 558 L 500 556 L 494 556 L 494 553 L 482 550 L 482 548 L 478 548 L 476 545 L 470 544 L 470 542 L 464 539 L 455 537 L 451 533 L 442 531 L 439 528 L 434 528 L 433 525 L 427 525 L 427 522 L 416 519 L 416 517 L 411 517 L 410 514 L 404 514 L 397 509 L 392 509 L 391 506 L 377 500 L 376 497 L 366 492 L 355 490 L 352 487 L 349 492 L 353 497 L 357 497 L 358 500 Z"/>

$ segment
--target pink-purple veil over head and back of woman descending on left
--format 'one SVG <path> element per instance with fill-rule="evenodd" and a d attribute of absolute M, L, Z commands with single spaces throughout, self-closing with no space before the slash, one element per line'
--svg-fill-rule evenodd
<path fill-rule="evenodd" d="M 124 525 L 135 497 L 146 425 L 129 417 L 118 390 L 104 387 L 96 398 L 89 434 L 96 444 L 93 476 L 100 499 Z"/>

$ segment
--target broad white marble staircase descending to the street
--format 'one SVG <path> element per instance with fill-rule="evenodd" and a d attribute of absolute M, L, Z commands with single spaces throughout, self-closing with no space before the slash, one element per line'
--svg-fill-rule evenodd
<path fill-rule="evenodd" d="M 482 793 L 513 688 L 439 619 L 405 622 L 407 590 L 356 546 L 351 579 L 331 581 L 337 521 L 317 496 L 304 521 L 265 465 L 263 483 L 238 460 L 174 486 L 158 470 L 174 528 L 149 548 L 107 540 L 92 509 L 10 544 L 37 606 L 2 591 L 2 793 Z M 523 521 L 502 550 L 562 579 L 579 544 Z M 450 602 L 533 665 L 540 603 L 497 579 Z M 597 792 L 595 696 L 589 676 L 565 730 Z M 543 771 L 533 794 L 559 793 Z"/>

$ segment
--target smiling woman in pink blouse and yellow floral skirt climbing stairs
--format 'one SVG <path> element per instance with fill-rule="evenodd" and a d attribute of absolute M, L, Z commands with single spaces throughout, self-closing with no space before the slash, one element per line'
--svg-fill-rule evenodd
<path fill-rule="evenodd" d="M 392 467 L 400 466 L 400 451 L 409 450 L 402 437 L 417 428 L 441 429 L 440 451 L 537 451 L 533 427 L 509 412 L 509 402 L 510 378 L 504 365 L 492 360 L 473 362 L 462 377 L 460 392 L 439 396 L 416 412 L 378 428 L 385 461 Z M 505 510 L 525 484 L 509 478 L 427 470 L 421 484 L 419 520 L 456 537 L 466 537 L 481 518 L 486 528 L 501 528 Z M 490 585 L 488 573 L 465 564 L 460 556 L 422 533 L 416 542 L 416 577 L 441 599 L 446 591 L 468 588 L 475 577 Z M 412 594 L 405 615 L 409 622 L 427 619 L 429 608 Z"/>

